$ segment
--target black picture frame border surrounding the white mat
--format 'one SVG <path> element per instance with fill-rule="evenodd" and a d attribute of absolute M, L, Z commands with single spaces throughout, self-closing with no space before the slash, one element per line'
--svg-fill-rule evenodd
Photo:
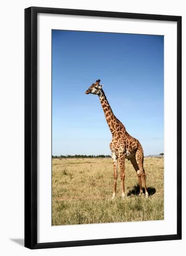
<path fill-rule="evenodd" d="M 67 242 L 37 242 L 37 14 L 54 13 L 177 22 L 177 233 Z M 181 16 L 75 10 L 46 7 L 25 9 L 25 247 L 30 249 L 181 239 Z"/>

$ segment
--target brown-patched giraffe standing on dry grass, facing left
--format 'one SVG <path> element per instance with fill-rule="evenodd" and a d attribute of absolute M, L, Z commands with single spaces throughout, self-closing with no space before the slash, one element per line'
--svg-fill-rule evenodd
<path fill-rule="evenodd" d="M 140 195 L 143 194 L 142 181 L 145 186 L 145 196 L 148 197 L 148 192 L 146 188 L 146 175 L 143 168 L 143 148 L 140 144 L 140 141 L 133 138 L 126 131 L 125 126 L 115 117 L 113 111 L 106 99 L 106 95 L 102 89 L 103 85 L 100 85 L 100 79 L 93 83 L 86 94 L 97 94 L 100 98 L 100 103 L 103 108 L 107 124 L 112 133 L 112 141 L 110 142 L 110 149 L 112 152 L 112 161 L 113 161 L 113 197 L 116 196 L 116 185 L 118 178 L 118 161 L 120 164 L 120 179 L 121 179 L 121 196 L 125 197 L 125 159 L 131 161 L 133 168 L 135 169 L 139 186 L 140 186 Z"/>

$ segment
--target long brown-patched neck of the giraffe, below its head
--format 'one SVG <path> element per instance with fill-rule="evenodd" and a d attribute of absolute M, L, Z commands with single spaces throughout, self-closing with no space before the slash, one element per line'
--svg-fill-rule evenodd
<path fill-rule="evenodd" d="M 112 133 L 112 135 L 114 135 L 118 129 L 122 126 L 122 123 L 115 117 L 115 115 L 113 114 L 113 111 L 106 99 L 106 95 L 104 93 L 104 91 L 101 89 L 101 92 L 99 94 L 99 98 L 100 98 L 100 102 L 101 102 L 101 106 L 103 108 L 105 117 L 106 117 L 106 121 L 107 124 L 110 128 L 110 131 Z"/>

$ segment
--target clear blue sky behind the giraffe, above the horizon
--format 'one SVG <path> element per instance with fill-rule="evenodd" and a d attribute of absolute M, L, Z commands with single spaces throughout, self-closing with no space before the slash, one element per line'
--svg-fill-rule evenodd
<path fill-rule="evenodd" d="M 110 155 L 97 79 L 144 155 L 164 152 L 164 37 L 52 30 L 52 154 Z"/>

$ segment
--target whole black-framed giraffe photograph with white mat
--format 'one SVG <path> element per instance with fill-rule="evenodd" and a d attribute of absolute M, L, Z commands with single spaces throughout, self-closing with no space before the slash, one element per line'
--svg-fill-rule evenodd
<path fill-rule="evenodd" d="M 25 246 L 181 239 L 181 17 L 25 9 Z"/>

